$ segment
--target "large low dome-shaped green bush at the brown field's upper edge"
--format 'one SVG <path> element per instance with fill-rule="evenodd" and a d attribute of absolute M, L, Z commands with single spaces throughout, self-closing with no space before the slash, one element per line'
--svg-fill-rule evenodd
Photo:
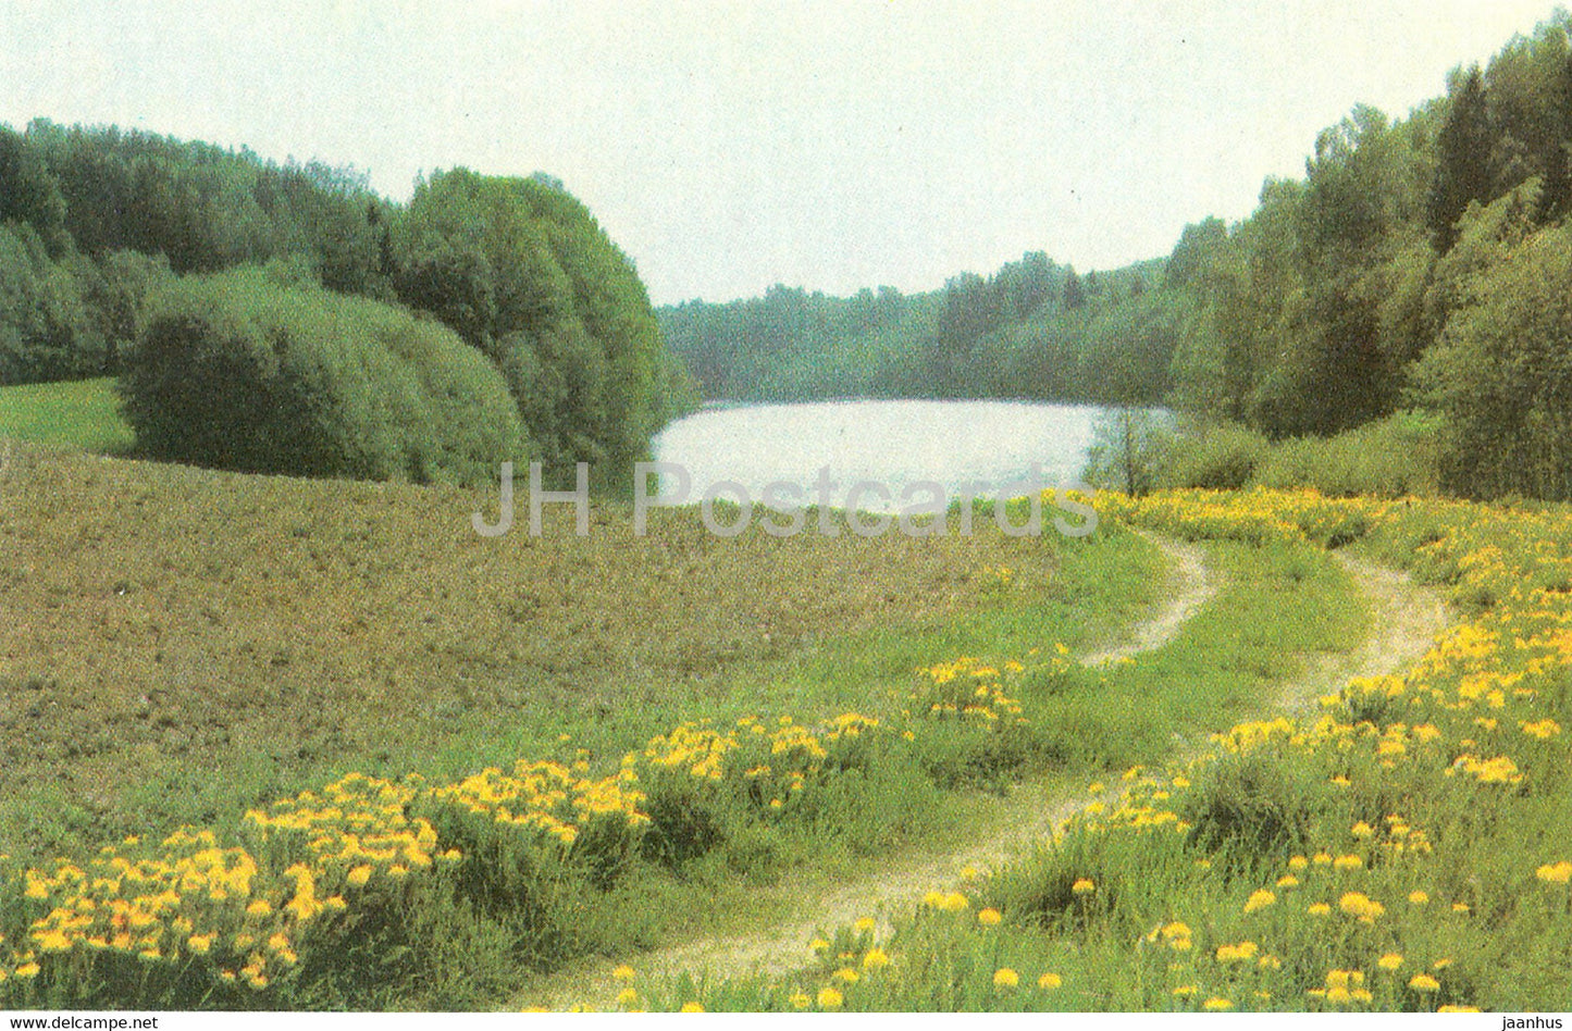
<path fill-rule="evenodd" d="M 527 453 L 501 376 L 451 330 L 259 269 L 163 291 L 119 390 L 138 448 L 195 465 L 470 484 Z"/>

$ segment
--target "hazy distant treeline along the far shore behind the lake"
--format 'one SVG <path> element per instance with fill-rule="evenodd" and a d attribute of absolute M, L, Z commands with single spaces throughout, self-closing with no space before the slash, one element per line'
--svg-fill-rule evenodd
<path fill-rule="evenodd" d="M 882 286 L 657 311 L 706 398 L 1050 398 L 1152 404 L 1170 390 L 1184 297 L 1162 261 L 1077 275 L 1025 255 L 905 295 Z"/>

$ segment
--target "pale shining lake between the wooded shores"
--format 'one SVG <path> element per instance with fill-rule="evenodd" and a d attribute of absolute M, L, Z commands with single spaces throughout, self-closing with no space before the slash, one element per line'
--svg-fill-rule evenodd
<path fill-rule="evenodd" d="M 828 503 L 844 506 L 852 484 L 866 481 L 855 508 L 894 511 L 901 492 L 918 482 L 938 484 L 948 497 L 997 497 L 1041 465 L 1044 486 L 1067 486 L 1086 465 L 1094 405 L 1012 401 L 822 401 L 709 407 L 668 426 L 654 440 L 657 462 L 687 471 L 660 478 L 662 501 L 698 501 L 715 484 L 731 481 L 759 501 L 772 482 L 795 484 L 799 503 L 819 501 L 821 470 L 835 482 Z M 717 492 L 739 500 L 736 487 Z"/>

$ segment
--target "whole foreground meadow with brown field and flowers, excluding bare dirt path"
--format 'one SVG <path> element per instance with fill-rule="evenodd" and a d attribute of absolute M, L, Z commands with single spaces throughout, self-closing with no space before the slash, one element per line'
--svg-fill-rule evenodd
<path fill-rule="evenodd" d="M 1088 539 L 912 541 L 597 503 L 487 541 L 483 489 L 83 443 L 0 473 L 3 1006 L 495 1009 L 591 963 L 607 1009 L 1572 1003 L 1561 506 L 1104 493 Z M 1185 586 L 1132 530 L 1215 593 L 1083 666 Z M 1306 714 L 1281 685 L 1371 630 L 1331 549 L 1464 622 Z M 1023 781 L 1083 802 L 893 927 L 643 971 L 960 853 Z"/>

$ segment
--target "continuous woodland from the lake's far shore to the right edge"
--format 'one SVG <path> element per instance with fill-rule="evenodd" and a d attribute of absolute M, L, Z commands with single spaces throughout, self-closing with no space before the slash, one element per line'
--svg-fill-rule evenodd
<path fill-rule="evenodd" d="M 1432 427 L 1442 489 L 1567 500 L 1569 31 L 1558 11 L 1405 119 L 1355 108 L 1303 179 L 1166 259 L 1075 275 L 1027 255 L 932 294 L 773 288 L 659 317 L 709 398 L 1166 402 L 1272 440 L 1410 412 L 1394 426 Z"/>

